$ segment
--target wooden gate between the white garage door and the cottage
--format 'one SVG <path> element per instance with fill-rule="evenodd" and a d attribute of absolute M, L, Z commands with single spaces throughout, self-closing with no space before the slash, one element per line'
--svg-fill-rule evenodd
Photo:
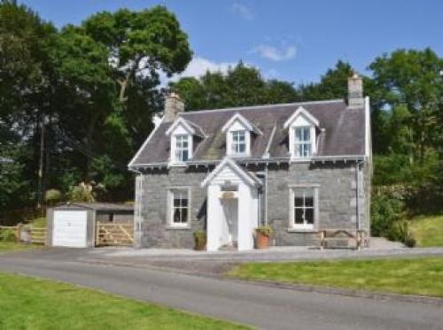
<path fill-rule="evenodd" d="M 133 224 L 114 224 L 97 221 L 96 246 L 132 246 L 133 244 Z"/>

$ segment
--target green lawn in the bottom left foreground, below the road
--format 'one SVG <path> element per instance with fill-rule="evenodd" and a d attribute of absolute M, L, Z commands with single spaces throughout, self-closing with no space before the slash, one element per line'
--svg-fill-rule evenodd
<path fill-rule="evenodd" d="M 0 272 L 0 329 L 241 329 L 229 322 Z"/>

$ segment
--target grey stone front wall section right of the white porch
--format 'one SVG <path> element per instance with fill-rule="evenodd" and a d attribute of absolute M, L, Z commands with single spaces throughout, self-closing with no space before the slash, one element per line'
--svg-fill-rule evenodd
<path fill-rule="evenodd" d="M 289 191 L 294 184 L 318 185 L 318 222 L 315 224 L 315 231 L 356 230 L 355 163 L 269 165 L 268 224 L 274 228 L 276 245 L 318 244 L 318 235 L 313 232 L 289 230 Z M 364 196 L 361 194 L 361 197 Z M 360 204 L 364 207 L 364 203 Z"/>

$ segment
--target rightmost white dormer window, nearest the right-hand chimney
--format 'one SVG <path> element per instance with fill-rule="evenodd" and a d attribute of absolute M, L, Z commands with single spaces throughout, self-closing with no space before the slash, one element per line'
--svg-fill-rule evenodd
<path fill-rule="evenodd" d="M 291 159 L 303 159 L 315 155 L 315 130 L 318 125 L 318 120 L 301 106 L 286 120 L 284 128 L 289 130 Z"/>

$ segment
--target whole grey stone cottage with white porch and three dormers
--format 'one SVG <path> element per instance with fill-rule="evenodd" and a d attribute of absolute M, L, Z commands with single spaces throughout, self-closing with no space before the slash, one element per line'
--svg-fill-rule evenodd
<path fill-rule="evenodd" d="M 348 99 L 184 111 L 174 93 L 128 167 L 137 173 L 136 246 L 310 246 L 321 230 L 369 234 L 371 134 L 361 78 Z"/>

